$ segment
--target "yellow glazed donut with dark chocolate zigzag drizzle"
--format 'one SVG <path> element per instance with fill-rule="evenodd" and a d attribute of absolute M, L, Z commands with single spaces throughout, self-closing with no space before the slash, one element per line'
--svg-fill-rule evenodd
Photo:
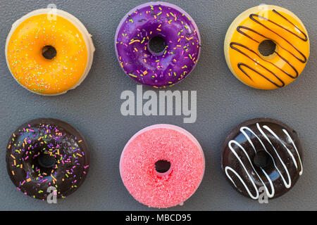
<path fill-rule="evenodd" d="M 273 51 L 264 55 L 259 46 L 267 41 L 273 41 Z M 241 82 L 256 89 L 277 89 L 293 82 L 304 70 L 309 37 L 294 13 L 260 5 L 232 22 L 224 50 L 228 67 Z"/>

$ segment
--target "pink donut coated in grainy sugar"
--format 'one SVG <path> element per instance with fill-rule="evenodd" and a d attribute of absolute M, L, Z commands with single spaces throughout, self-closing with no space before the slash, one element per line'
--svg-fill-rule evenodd
<path fill-rule="evenodd" d="M 168 162 L 166 171 L 156 167 Z M 166 208 L 182 205 L 204 176 L 204 152 L 188 131 L 156 124 L 137 132 L 120 158 L 120 175 L 129 193 L 144 205 Z"/>

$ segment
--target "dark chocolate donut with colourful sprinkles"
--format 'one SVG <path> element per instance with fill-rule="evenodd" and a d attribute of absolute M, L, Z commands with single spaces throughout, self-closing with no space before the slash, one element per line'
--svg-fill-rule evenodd
<path fill-rule="evenodd" d="M 50 186 L 57 197 L 70 195 L 85 180 L 89 149 L 70 124 L 56 119 L 37 119 L 21 125 L 8 141 L 8 174 L 25 195 L 45 200 Z"/>

